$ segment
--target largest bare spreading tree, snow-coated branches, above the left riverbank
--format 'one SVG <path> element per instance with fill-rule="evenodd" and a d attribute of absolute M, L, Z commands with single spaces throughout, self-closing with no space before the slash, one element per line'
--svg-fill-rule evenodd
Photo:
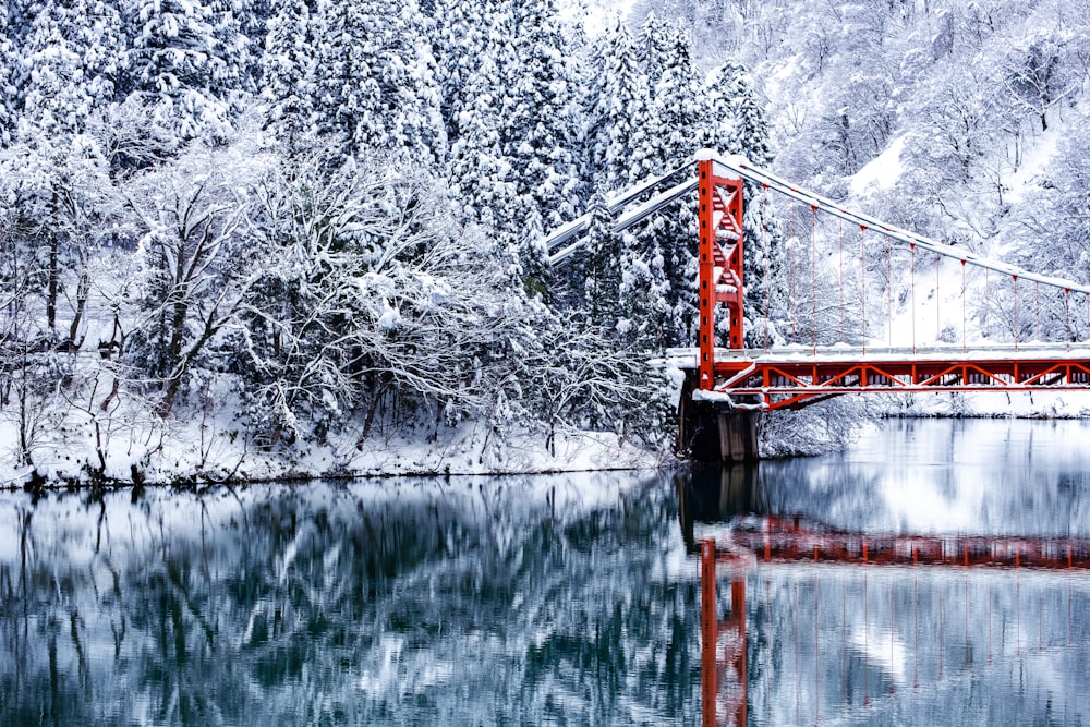
<path fill-rule="evenodd" d="M 489 409 L 522 325 L 495 242 L 459 225 L 445 191 L 403 160 L 332 172 L 324 155 L 283 166 L 263 193 L 268 264 L 242 344 L 229 344 L 270 439 L 362 412 Z"/>

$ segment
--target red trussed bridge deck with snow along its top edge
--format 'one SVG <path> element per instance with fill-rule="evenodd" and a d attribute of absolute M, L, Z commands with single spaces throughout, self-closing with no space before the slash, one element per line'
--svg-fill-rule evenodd
<path fill-rule="evenodd" d="M 697 368 L 697 355 L 668 352 L 683 369 Z M 714 387 L 693 399 L 740 409 L 798 408 L 843 393 L 1090 390 L 1090 344 L 716 349 L 714 371 Z"/>

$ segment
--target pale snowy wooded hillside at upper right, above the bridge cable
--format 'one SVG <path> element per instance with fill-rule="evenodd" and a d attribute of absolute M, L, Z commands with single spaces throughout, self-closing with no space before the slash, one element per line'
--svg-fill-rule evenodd
<path fill-rule="evenodd" d="M 640 0 L 632 16 L 647 12 L 691 29 L 701 68 L 750 70 L 783 177 L 936 240 L 1090 280 L 1087 2 Z M 990 332 L 1010 340 L 1007 324 Z"/>

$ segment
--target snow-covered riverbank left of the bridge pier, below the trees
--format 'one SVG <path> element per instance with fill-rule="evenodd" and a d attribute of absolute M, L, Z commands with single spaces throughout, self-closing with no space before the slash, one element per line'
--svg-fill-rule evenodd
<path fill-rule="evenodd" d="M 557 432 L 546 447 L 544 433 L 500 435 L 483 422 L 367 437 L 346 432 L 325 441 L 263 448 L 235 428 L 190 419 L 98 437 L 93 426 L 57 429 L 41 437 L 27 464 L 17 462 L 15 434 L 10 423 L 0 424 L 7 445 L 0 482 L 7 488 L 605 471 L 656 468 L 666 459 L 611 433 Z"/>

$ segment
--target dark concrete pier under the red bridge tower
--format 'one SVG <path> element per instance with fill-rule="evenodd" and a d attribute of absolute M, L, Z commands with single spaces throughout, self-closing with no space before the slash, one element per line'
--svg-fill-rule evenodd
<path fill-rule="evenodd" d="M 695 377 L 686 377 L 678 404 L 680 457 L 697 462 L 731 464 L 760 458 L 758 423 L 761 413 L 734 409 L 725 402 L 693 401 Z"/>

